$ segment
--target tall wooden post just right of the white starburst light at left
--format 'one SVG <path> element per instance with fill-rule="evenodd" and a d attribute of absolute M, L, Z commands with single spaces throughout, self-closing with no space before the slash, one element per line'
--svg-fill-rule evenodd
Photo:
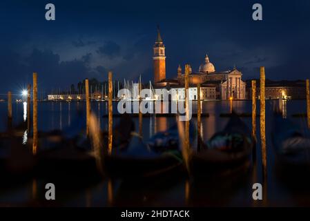
<path fill-rule="evenodd" d="M 37 88 L 37 73 L 33 73 L 33 113 L 32 113 L 32 118 L 33 118 L 33 142 L 32 142 L 32 153 L 35 155 L 37 154 L 37 148 L 38 148 L 38 122 L 37 122 L 37 108 L 38 108 L 38 88 Z"/>

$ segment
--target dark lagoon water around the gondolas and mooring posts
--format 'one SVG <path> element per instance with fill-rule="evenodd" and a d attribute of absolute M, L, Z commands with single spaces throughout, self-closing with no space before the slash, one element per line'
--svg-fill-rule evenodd
<path fill-rule="evenodd" d="M 117 113 L 117 104 L 113 111 Z M 278 101 L 266 102 L 266 130 L 267 130 L 267 185 L 264 185 L 264 200 L 253 202 L 252 185 L 262 183 L 260 139 L 257 145 L 257 164 L 251 164 L 249 173 L 241 177 L 232 177 L 229 180 L 193 181 L 185 177 L 164 177 L 152 182 L 135 180 L 103 180 L 86 187 L 72 185 L 72 188 L 56 186 L 56 204 L 63 206 L 304 206 L 310 205 L 310 191 L 296 191 L 289 188 L 278 179 L 275 173 L 275 155 L 271 144 L 271 119 L 273 106 Z M 91 104 L 93 113 L 98 116 L 101 129 L 107 129 L 107 119 L 101 117 L 107 113 L 104 102 Z M 195 113 L 193 104 L 193 113 Z M 238 113 L 251 113 L 251 101 L 234 101 L 233 109 Z M 85 113 L 86 105 L 83 102 L 46 102 L 38 103 L 38 128 L 39 131 L 52 129 L 64 130 L 77 119 L 77 111 Z M 6 130 L 7 103 L 0 103 L 1 124 L 0 131 Z M 202 113 L 209 113 L 209 117 L 202 117 L 202 138 L 208 140 L 216 131 L 224 128 L 227 117 L 220 117 L 220 113 L 229 113 L 229 102 L 203 102 Z M 285 115 L 293 119 L 301 128 L 307 130 L 307 119 L 302 117 L 292 118 L 293 113 L 305 113 L 306 102 L 301 100 L 288 101 L 284 105 Z M 259 104 L 258 104 L 259 113 Z M 22 122 L 25 117 L 23 103 L 13 104 L 13 123 Z M 85 117 L 86 118 L 86 117 Z M 242 118 L 251 128 L 251 117 Z M 113 119 L 117 124 L 118 119 Z M 195 122 L 193 118 L 193 122 Z M 85 119 L 84 119 L 85 121 Z M 138 117 L 134 118 L 136 131 L 139 130 Z M 175 117 L 143 117 L 142 128 L 144 140 L 148 140 L 157 131 L 164 131 L 175 124 Z M 257 137 L 259 134 L 259 118 L 256 122 Z M 81 129 L 85 122 L 81 124 Z M 309 174 L 305 175 L 309 176 Z M 82 177 L 81 177 L 82 178 Z M 32 180 L 0 189 L 0 204 L 27 205 L 29 202 L 43 202 L 43 180 Z M 48 182 L 52 182 L 49 180 Z"/>

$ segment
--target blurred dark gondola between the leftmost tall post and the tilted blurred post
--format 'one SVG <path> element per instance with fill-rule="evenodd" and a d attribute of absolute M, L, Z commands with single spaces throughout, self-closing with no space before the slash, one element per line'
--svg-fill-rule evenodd
<path fill-rule="evenodd" d="M 79 182 L 86 183 L 101 179 L 101 165 L 97 164 L 91 138 L 82 129 L 82 119 L 78 115 L 69 128 L 39 135 L 38 146 L 41 148 L 35 155 L 36 173 L 39 177 L 53 180 L 77 178 Z M 81 177 L 87 179 L 83 180 Z"/>

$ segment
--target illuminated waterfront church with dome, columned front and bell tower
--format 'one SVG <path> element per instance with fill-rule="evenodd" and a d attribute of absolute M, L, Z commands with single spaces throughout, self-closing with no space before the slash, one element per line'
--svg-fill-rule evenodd
<path fill-rule="evenodd" d="M 175 88 L 184 93 L 185 73 L 177 67 L 176 77 L 166 79 L 165 46 L 159 29 L 153 46 L 154 84 L 156 88 Z M 217 72 L 208 55 L 197 72 L 189 69 L 189 97 L 197 99 L 197 84 L 200 84 L 200 99 L 246 99 L 246 83 L 242 81 L 242 73 L 237 68 Z M 178 95 L 183 97 L 184 95 Z"/>

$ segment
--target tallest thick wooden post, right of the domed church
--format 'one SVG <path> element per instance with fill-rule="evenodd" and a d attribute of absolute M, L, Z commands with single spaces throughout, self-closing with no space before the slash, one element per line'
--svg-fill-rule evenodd
<path fill-rule="evenodd" d="M 260 67 L 260 140 L 262 142 L 262 166 L 267 173 L 266 121 L 265 121 L 265 70 Z"/>

